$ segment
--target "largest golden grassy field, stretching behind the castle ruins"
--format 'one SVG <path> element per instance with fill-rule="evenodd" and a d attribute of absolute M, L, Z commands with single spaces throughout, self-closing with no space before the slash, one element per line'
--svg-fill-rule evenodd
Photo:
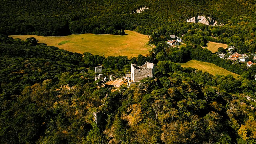
<path fill-rule="evenodd" d="M 126 35 L 109 34 L 79 34 L 69 36 L 36 36 L 36 35 L 11 35 L 10 37 L 26 40 L 35 37 L 39 43 L 53 45 L 60 49 L 71 52 L 90 52 L 105 56 L 128 56 L 137 57 L 139 54 L 146 55 L 153 47 L 147 45 L 148 35 L 143 35 L 135 31 L 125 30 Z"/>

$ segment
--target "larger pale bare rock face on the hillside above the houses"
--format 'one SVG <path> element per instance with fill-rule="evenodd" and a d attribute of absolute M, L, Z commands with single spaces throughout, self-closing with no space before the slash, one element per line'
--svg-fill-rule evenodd
<path fill-rule="evenodd" d="M 196 16 L 196 17 L 192 17 L 190 19 L 187 19 L 187 22 L 189 23 L 202 23 L 208 26 L 222 26 L 222 25 L 217 25 L 217 21 L 215 21 L 214 19 L 210 18 L 210 17 L 204 17 L 204 16 Z"/>

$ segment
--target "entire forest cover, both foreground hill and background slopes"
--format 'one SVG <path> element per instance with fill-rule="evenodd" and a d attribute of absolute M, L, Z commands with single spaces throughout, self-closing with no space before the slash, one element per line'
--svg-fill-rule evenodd
<path fill-rule="evenodd" d="M 256 65 L 232 63 L 202 48 L 212 41 L 255 53 L 255 5 L 254 0 L 3 0 L 0 143 L 255 144 Z M 186 22 L 198 15 L 223 25 Z M 8 37 L 124 35 L 125 29 L 151 35 L 156 47 L 128 59 Z M 187 46 L 169 47 L 170 34 Z M 189 60 L 240 76 L 213 76 L 179 64 Z M 118 88 L 95 81 L 95 66 L 103 66 L 107 81 L 110 75 L 124 81 L 131 63 L 145 62 L 155 64 L 154 78 Z"/>

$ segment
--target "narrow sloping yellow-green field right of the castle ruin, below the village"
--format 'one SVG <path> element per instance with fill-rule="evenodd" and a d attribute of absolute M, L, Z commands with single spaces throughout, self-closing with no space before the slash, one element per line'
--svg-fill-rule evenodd
<path fill-rule="evenodd" d="M 191 60 L 191 61 L 188 61 L 187 63 L 180 63 L 182 67 L 192 67 L 192 68 L 195 68 L 195 69 L 198 69 L 198 70 L 202 70 L 202 71 L 205 71 L 205 72 L 208 72 L 212 75 L 232 75 L 234 78 L 237 78 L 239 75 L 238 74 L 235 74 L 235 73 L 232 73 L 224 68 L 221 68 L 215 64 L 212 64 L 212 63 L 205 63 L 205 62 L 200 62 L 200 61 L 195 61 L 195 60 Z"/>

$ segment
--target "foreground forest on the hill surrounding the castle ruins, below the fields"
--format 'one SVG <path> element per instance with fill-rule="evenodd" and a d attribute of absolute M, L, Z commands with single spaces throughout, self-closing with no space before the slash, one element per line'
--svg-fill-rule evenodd
<path fill-rule="evenodd" d="M 195 73 L 156 55 L 160 47 L 106 58 L 1 35 L 0 143 L 256 143 L 256 81 Z M 98 64 L 122 78 L 145 61 L 155 78 L 119 88 L 94 81 Z"/>

